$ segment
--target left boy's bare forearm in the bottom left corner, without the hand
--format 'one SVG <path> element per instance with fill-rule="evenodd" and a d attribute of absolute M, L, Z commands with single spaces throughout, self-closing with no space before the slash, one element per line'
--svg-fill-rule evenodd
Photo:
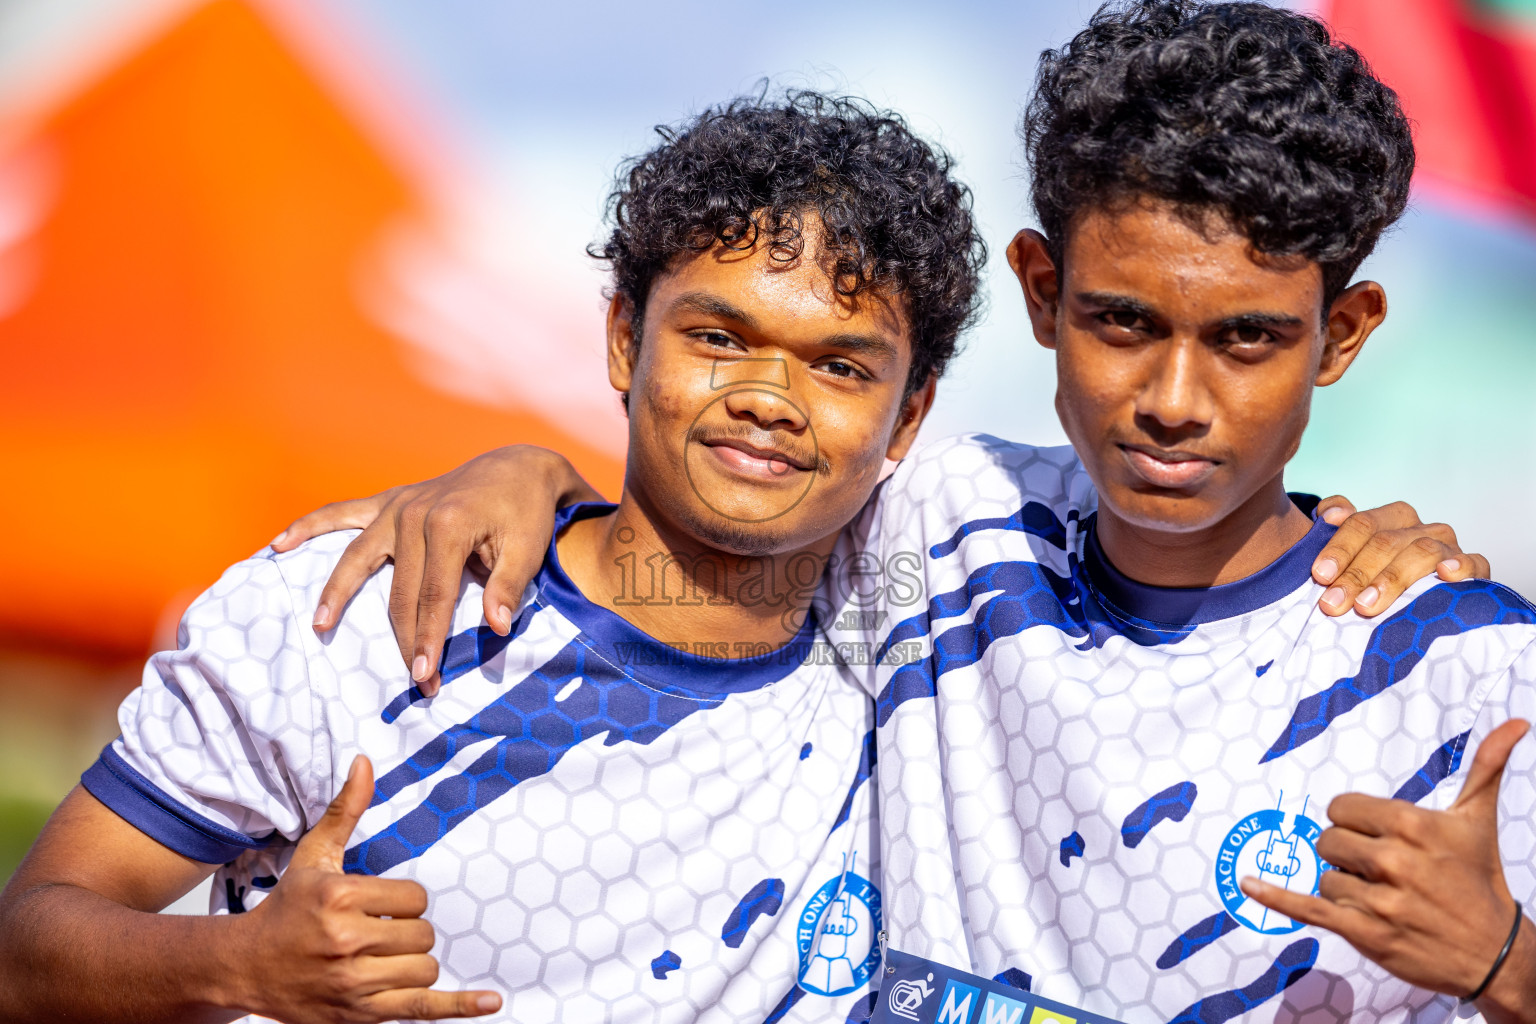
<path fill-rule="evenodd" d="M 146 913 L 69 884 L 6 894 L 0 1024 L 232 1021 L 249 1012 L 240 944 L 235 915 Z"/>

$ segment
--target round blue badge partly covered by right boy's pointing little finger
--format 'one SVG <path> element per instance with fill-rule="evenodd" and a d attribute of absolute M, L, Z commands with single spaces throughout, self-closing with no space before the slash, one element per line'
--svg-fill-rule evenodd
<path fill-rule="evenodd" d="M 1238 887 L 1244 878 L 1318 895 L 1324 870 L 1322 858 L 1318 857 L 1322 827 L 1306 811 L 1306 801 L 1301 814 L 1286 814 L 1279 808 L 1256 811 L 1233 824 L 1221 840 L 1221 852 L 1217 854 L 1217 892 L 1227 913 L 1255 932 L 1284 935 L 1298 930 L 1301 923 L 1249 900 Z"/>

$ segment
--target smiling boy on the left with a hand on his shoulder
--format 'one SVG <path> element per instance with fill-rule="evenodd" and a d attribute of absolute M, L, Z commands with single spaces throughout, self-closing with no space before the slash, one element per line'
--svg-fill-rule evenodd
<path fill-rule="evenodd" d="M 0 1019 L 868 1013 L 874 712 L 811 594 L 975 312 L 971 197 L 793 94 L 667 132 L 613 218 L 617 505 L 562 511 L 504 636 L 465 579 L 432 699 L 387 571 L 310 631 L 346 536 L 230 568 L 6 887 Z M 210 874 L 227 913 L 155 915 Z"/>

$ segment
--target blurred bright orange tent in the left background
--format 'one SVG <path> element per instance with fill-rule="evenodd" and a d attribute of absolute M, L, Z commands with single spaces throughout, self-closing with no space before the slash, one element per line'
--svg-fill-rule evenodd
<path fill-rule="evenodd" d="M 559 447 L 617 490 L 558 416 L 424 382 L 361 309 L 359 263 L 424 201 L 237 0 L 192 5 L 11 138 L 6 643 L 140 654 L 293 516 L 495 444 Z"/>

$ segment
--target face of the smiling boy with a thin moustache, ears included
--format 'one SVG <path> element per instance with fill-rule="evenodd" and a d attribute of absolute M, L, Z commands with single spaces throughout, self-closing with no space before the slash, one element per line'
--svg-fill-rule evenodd
<path fill-rule="evenodd" d="M 794 263 L 716 246 L 651 284 L 644 338 L 608 312 L 608 376 L 628 391 L 625 490 L 711 548 L 776 554 L 836 537 L 886 457 L 917 436 L 932 385 L 903 401 L 902 304 L 839 296 L 805 218 Z"/>

